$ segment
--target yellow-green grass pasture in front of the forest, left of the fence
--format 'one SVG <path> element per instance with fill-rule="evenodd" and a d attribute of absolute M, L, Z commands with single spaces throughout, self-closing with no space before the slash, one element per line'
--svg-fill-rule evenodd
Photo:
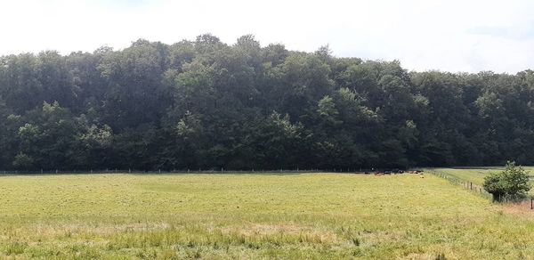
<path fill-rule="evenodd" d="M 0 177 L 0 257 L 534 256 L 534 213 L 433 175 Z"/>

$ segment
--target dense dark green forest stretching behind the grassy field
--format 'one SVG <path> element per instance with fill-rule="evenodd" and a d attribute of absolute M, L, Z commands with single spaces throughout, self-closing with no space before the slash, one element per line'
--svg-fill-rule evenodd
<path fill-rule="evenodd" d="M 534 164 L 534 71 L 227 45 L 0 58 L 0 169 L 294 169 Z"/>

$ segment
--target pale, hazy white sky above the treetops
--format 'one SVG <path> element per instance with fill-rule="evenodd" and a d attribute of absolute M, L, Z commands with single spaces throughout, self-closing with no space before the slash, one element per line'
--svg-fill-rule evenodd
<path fill-rule="evenodd" d="M 211 33 L 227 44 L 337 57 L 399 60 L 450 72 L 534 69 L 531 0 L 0 0 L 0 55 L 122 49 L 139 38 L 173 44 Z"/>

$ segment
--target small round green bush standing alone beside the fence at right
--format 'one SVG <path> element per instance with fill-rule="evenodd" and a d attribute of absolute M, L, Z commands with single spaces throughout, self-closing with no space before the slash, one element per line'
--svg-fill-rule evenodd
<path fill-rule="evenodd" d="M 522 167 L 515 166 L 515 162 L 508 161 L 504 171 L 484 178 L 484 190 L 490 192 L 496 201 L 525 198 L 530 191 L 529 174 Z"/>

